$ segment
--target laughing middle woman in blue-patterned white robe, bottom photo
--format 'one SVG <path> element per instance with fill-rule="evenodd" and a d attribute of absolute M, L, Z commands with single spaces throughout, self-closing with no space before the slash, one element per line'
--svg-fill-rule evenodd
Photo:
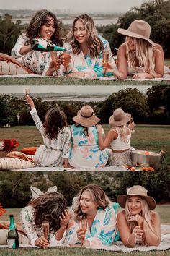
<path fill-rule="evenodd" d="M 73 199 L 75 221 L 72 231 L 68 234 L 76 243 L 84 247 L 101 247 L 111 245 L 117 233 L 115 210 L 103 189 L 96 184 L 83 187 L 79 195 Z M 82 226 L 84 221 L 85 227 Z"/>

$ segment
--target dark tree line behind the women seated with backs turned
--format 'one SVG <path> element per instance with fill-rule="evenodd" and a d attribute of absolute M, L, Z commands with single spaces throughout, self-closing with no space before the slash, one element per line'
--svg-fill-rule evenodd
<path fill-rule="evenodd" d="M 73 124 L 73 116 L 87 104 L 84 101 L 42 101 L 33 98 L 35 108 L 40 119 L 44 121 L 45 113 L 53 106 L 60 106 L 68 117 L 68 124 Z M 131 113 L 135 124 L 170 124 L 170 87 L 153 86 L 143 94 L 137 88 L 127 88 L 112 93 L 105 101 L 91 101 L 88 103 L 94 109 L 101 124 L 108 124 L 109 116 L 116 108 L 122 108 Z M 25 104 L 24 98 L 12 95 L 0 95 L 0 127 L 6 124 L 34 125 L 30 115 L 30 106 Z"/>

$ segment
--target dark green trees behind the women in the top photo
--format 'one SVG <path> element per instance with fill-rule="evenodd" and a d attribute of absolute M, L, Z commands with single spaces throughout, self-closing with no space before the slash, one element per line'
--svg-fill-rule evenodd
<path fill-rule="evenodd" d="M 117 33 L 117 28 L 128 29 L 133 20 L 146 20 L 151 25 L 151 40 L 161 44 L 166 58 L 170 58 L 170 1 L 146 1 L 140 7 L 133 7 L 122 15 L 116 24 L 97 27 L 99 34 L 109 41 L 112 54 L 117 54 L 117 48 L 125 41 L 125 36 Z M 21 20 L 12 22 L 12 15 L 5 14 L 0 17 L 0 48 L 4 54 L 10 54 L 19 35 L 25 30 L 26 25 Z M 70 25 L 62 24 L 62 37 L 65 38 Z"/>

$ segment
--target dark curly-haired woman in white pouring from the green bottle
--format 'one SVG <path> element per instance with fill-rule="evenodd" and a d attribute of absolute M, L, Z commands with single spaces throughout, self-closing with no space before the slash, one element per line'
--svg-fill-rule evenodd
<path fill-rule="evenodd" d="M 34 74 L 53 75 L 55 66 L 50 56 L 50 52 L 33 51 L 31 41 L 34 38 L 45 38 L 57 45 L 61 45 L 61 26 L 55 14 L 46 9 L 37 11 L 32 17 L 26 32 L 22 33 L 12 48 L 12 56 L 22 62 Z M 56 61 L 60 67 L 60 61 Z"/>

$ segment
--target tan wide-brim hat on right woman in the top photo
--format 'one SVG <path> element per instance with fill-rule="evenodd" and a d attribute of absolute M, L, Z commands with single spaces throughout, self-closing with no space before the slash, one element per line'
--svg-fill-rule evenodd
<path fill-rule="evenodd" d="M 128 30 L 118 28 L 117 32 L 132 38 L 141 38 L 147 40 L 148 43 L 156 46 L 156 44 L 149 39 L 151 35 L 151 27 L 148 22 L 145 22 L 144 20 L 134 20 L 128 27 Z"/>

